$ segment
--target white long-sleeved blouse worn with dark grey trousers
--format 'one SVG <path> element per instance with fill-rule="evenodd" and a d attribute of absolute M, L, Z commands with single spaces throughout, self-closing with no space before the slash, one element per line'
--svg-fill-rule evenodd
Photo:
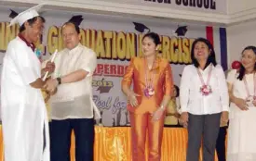
<path fill-rule="evenodd" d="M 207 83 L 210 66 L 204 70 L 199 69 L 205 83 Z M 209 93 L 207 96 L 202 95 L 200 92 L 202 82 L 195 66 L 186 66 L 182 72 L 180 87 L 180 112 L 189 112 L 194 115 L 208 115 L 229 111 L 227 83 L 220 65 L 212 66 L 209 85 L 212 93 Z"/>

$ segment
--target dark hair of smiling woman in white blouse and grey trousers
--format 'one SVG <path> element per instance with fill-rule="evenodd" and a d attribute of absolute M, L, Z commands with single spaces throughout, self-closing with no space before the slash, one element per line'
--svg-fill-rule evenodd
<path fill-rule="evenodd" d="M 209 57 L 207 59 L 207 64 L 206 64 L 205 68 L 207 68 L 210 63 L 215 67 L 217 65 L 217 62 L 216 62 L 216 58 L 215 58 L 214 48 L 213 48 L 212 44 L 209 42 L 209 40 L 207 40 L 205 38 L 201 38 L 201 37 L 195 39 L 195 41 L 192 43 L 192 47 L 191 47 L 192 64 L 195 66 L 195 68 L 199 67 L 199 63 L 195 59 L 195 52 L 194 52 L 195 44 L 198 43 L 198 42 L 206 43 L 206 45 L 208 46 L 209 51 L 210 51 L 210 54 L 209 54 Z"/>

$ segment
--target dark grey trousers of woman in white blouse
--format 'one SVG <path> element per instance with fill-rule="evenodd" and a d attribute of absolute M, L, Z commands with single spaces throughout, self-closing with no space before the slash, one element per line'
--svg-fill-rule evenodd
<path fill-rule="evenodd" d="M 214 161 L 216 141 L 220 130 L 221 113 L 192 115 L 188 118 L 188 148 L 186 161 L 198 161 L 202 142 L 203 161 Z"/>

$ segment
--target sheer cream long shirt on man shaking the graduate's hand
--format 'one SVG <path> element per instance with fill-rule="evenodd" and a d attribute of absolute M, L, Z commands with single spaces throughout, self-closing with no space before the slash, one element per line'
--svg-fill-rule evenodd
<path fill-rule="evenodd" d="M 82 81 L 62 83 L 51 99 L 51 118 L 93 118 L 99 113 L 92 100 L 92 75 L 97 66 L 95 53 L 86 46 L 78 44 L 74 49 L 62 50 L 55 59 L 53 78 L 63 77 L 78 69 L 88 71 Z"/>

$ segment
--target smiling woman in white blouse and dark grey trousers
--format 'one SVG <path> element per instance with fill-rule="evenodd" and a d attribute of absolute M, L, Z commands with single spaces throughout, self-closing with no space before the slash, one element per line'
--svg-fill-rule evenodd
<path fill-rule="evenodd" d="M 201 139 L 203 160 L 213 161 L 221 118 L 228 120 L 227 84 L 208 40 L 195 40 L 191 58 L 192 65 L 183 69 L 180 87 L 181 123 L 188 129 L 186 161 L 199 160 Z"/>

